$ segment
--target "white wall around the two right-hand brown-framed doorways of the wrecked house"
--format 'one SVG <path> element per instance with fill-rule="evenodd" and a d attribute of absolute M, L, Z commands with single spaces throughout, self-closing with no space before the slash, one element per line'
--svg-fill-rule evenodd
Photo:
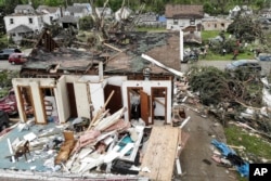
<path fill-rule="evenodd" d="M 167 88 L 167 124 L 171 122 L 171 81 L 170 80 L 127 80 L 122 82 L 121 91 L 122 91 L 122 100 L 124 106 L 128 107 L 128 98 L 127 98 L 127 88 L 128 87 L 142 87 L 143 91 L 151 95 L 152 87 L 155 88 Z M 151 102 L 152 105 L 152 102 Z M 164 116 L 164 115 L 163 115 Z M 125 118 L 128 119 L 128 112 L 125 113 Z M 151 124 L 151 117 L 149 119 Z"/>

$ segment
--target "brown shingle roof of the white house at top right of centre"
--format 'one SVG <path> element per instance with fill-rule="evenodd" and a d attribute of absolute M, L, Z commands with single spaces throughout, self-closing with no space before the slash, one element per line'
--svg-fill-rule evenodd
<path fill-rule="evenodd" d="M 203 5 L 167 4 L 166 17 L 204 17 Z"/>

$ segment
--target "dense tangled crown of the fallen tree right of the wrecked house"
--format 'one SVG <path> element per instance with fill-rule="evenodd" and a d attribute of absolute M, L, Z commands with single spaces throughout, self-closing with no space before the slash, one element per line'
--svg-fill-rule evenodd
<path fill-rule="evenodd" d="M 235 102 L 249 106 L 261 104 L 261 83 L 257 74 L 245 70 L 234 75 L 216 67 L 193 67 L 189 77 L 192 91 L 198 92 L 204 105 Z"/>

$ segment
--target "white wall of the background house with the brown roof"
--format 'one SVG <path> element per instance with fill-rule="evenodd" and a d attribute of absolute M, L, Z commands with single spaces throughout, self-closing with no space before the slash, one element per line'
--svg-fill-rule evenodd
<path fill-rule="evenodd" d="M 201 24 L 201 18 L 195 18 L 194 25 Z M 180 18 L 180 20 L 173 20 L 173 18 L 167 18 L 167 29 L 168 30 L 180 30 L 185 28 L 186 26 L 191 26 L 191 20 L 190 18 Z"/>

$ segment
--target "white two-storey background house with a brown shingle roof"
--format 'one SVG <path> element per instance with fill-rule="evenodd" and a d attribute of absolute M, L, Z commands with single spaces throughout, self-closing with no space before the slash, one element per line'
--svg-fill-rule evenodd
<path fill-rule="evenodd" d="M 194 26 L 195 30 L 198 30 L 197 27 L 204 17 L 204 10 L 203 5 L 167 4 L 165 15 L 169 30 L 180 30 L 188 26 Z"/>

